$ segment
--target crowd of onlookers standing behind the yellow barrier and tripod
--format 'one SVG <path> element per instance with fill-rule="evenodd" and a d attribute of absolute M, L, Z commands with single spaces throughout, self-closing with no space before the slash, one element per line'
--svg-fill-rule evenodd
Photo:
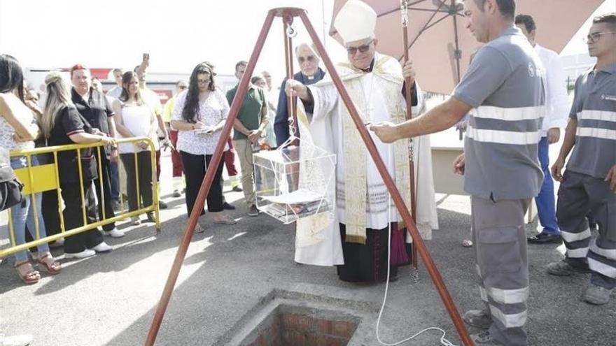
<path fill-rule="evenodd" d="M 302 60 L 298 60 L 302 71 L 307 73 L 304 75 L 322 73 L 318 69 L 318 58 L 308 45 L 300 45 L 296 54 Z M 238 81 L 247 64 L 245 61 L 236 64 Z M 167 208 L 165 201 L 155 200 L 158 194 L 153 191 L 153 182 L 160 178 L 161 147 L 171 149 L 172 153 L 172 196 L 186 194 L 190 215 L 237 86 L 224 92 L 216 84 L 214 64 L 202 62 L 195 66 L 188 81 L 176 83 L 174 96 L 163 107 L 158 94 L 146 85 L 148 66 L 149 57 L 144 55 L 143 61 L 132 71 L 113 69 L 116 86 L 104 92 L 102 82 L 93 77 L 86 66 L 76 64 L 68 71 L 70 80 L 60 71 L 49 73 L 45 78 L 45 92 L 39 95 L 28 87 L 18 61 L 10 55 L 0 55 L 2 147 L 14 152 L 76 143 L 99 144 L 81 150 L 59 151 L 56 162 L 59 189 L 26 196 L 22 203 L 10 208 L 15 245 L 55 235 L 62 229 L 62 222 L 64 230 L 71 230 L 86 223 L 111 219 L 118 212 L 153 206 L 153 203 L 158 203 L 161 209 Z M 318 79 L 321 78 L 322 75 Z M 236 207 L 223 196 L 223 166 L 227 168 L 232 191 L 244 192 L 248 215 L 259 215 L 255 205 L 252 154 L 275 148 L 290 136 L 286 95 L 279 97 L 271 91 L 272 76 L 267 71 L 251 77 L 234 131 L 226 140 L 223 161 L 215 168 L 214 182 L 207 196 L 211 222 L 236 222 L 225 212 Z M 281 132 L 281 128 L 286 132 Z M 277 133 L 283 134 L 276 136 Z M 117 139 L 134 137 L 146 137 L 150 141 L 116 143 Z M 239 168 L 235 164 L 236 155 Z M 10 166 L 17 169 L 49 164 L 53 160 L 52 154 L 37 154 L 31 156 L 28 163 L 26 156 L 13 154 Z M 59 206 L 64 206 L 62 215 Z M 201 215 L 204 212 L 201 210 Z M 145 214 L 145 219 L 132 216 L 131 223 L 156 221 L 153 212 Z M 49 245 L 32 247 L 30 252 L 36 254 L 38 271 L 29 261 L 27 251 L 17 252 L 15 268 L 20 279 L 25 284 L 34 284 L 41 278 L 41 271 L 53 275 L 62 270 L 50 246 L 64 247 L 65 258 L 85 258 L 113 250 L 105 243 L 104 235 L 124 236 L 115 222 L 104 222 L 100 229 L 102 231 L 90 229 L 59 238 Z M 197 224 L 195 232 L 203 230 Z"/>

